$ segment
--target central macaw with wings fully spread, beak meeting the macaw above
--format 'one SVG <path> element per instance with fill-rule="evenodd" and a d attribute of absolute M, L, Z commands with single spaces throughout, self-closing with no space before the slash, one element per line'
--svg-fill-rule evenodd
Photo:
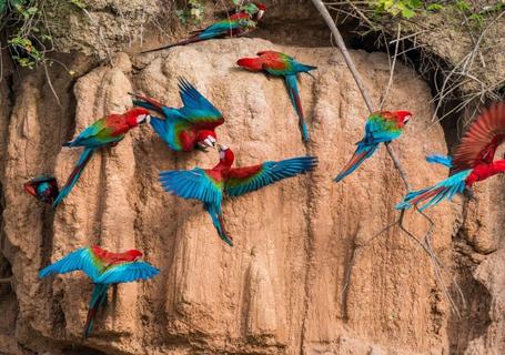
<path fill-rule="evenodd" d="M 232 150 L 221 144 L 218 144 L 218 150 L 220 162 L 213 169 L 164 171 L 160 173 L 160 182 L 169 193 L 203 202 L 219 236 L 230 246 L 233 246 L 233 242 L 224 227 L 221 207 L 223 194 L 240 196 L 280 180 L 312 171 L 317 164 L 315 156 L 300 156 L 248 168 L 232 168 L 235 160 Z"/>

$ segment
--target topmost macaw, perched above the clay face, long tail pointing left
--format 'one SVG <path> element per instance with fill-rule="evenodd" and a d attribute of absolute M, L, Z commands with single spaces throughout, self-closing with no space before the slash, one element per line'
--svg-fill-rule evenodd
<path fill-rule="evenodd" d="M 211 24 L 203 30 L 193 31 L 191 32 L 192 36 L 185 40 L 156 49 L 143 51 L 141 53 L 161 51 L 163 49 L 206 41 L 210 39 L 243 36 L 256 28 L 257 22 L 261 20 L 265 11 L 266 7 L 263 3 L 253 3 L 252 9 L 248 11 L 242 10 L 238 13 L 232 14 L 228 19 Z"/>

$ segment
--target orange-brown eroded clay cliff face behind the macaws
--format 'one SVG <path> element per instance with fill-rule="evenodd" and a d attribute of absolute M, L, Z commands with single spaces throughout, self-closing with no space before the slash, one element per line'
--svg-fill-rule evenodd
<path fill-rule="evenodd" d="M 137 11 L 137 4 L 132 11 Z M 301 11 L 297 4 L 290 11 Z M 149 11 L 147 9 L 145 11 Z M 275 8 L 274 8 L 275 11 Z M 279 9 L 277 9 L 279 11 Z M 273 12 L 275 13 L 275 12 Z M 304 12 L 304 14 L 306 14 Z M 79 23 L 75 23 L 78 26 Z M 263 32 L 264 33 L 264 32 Z M 283 32 L 276 32 L 281 39 Z M 261 34 L 261 32 L 260 32 Z M 113 37 L 113 36 L 112 36 Z M 292 34 L 282 37 L 282 42 Z M 321 40 L 321 38 L 320 38 Z M 279 41 L 275 41 L 279 42 Z M 343 183 L 332 179 L 360 140 L 366 108 L 332 48 L 279 45 L 261 39 L 211 41 L 150 55 L 113 55 L 95 68 L 65 58 L 75 81 L 50 69 L 0 87 L 0 353 L 7 354 L 501 354 L 504 331 L 503 178 L 482 183 L 474 200 L 428 212 L 433 248 L 466 298 L 451 312 L 426 253 L 398 226 L 393 210 L 405 190 L 385 150 Z M 282 80 L 234 65 L 264 49 L 319 67 L 302 77 L 311 141 L 301 142 Z M 352 53 L 375 103 L 390 75 L 387 57 Z M 184 77 L 224 114 L 220 141 L 238 165 L 314 154 L 319 169 L 224 203 L 233 248 L 215 235 L 201 205 L 164 193 L 161 170 L 212 166 L 215 152 L 174 154 L 149 126 L 97 154 L 65 202 L 52 211 L 22 191 L 41 173 L 64 181 L 79 151 L 62 149 L 88 124 L 131 106 L 129 91 L 181 104 Z M 415 187 L 445 178 L 424 155 L 446 152 L 433 123 L 432 93 L 397 63 L 386 108 L 414 112 L 393 146 Z M 405 225 L 423 237 L 424 217 Z M 68 252 L 99 243 L 142 250 L 161 268 L 152 281 L 120 285 L 92 337 L 81 337 L 91 284 L 81 274 L 40 281 L 38 271 Z"/>

